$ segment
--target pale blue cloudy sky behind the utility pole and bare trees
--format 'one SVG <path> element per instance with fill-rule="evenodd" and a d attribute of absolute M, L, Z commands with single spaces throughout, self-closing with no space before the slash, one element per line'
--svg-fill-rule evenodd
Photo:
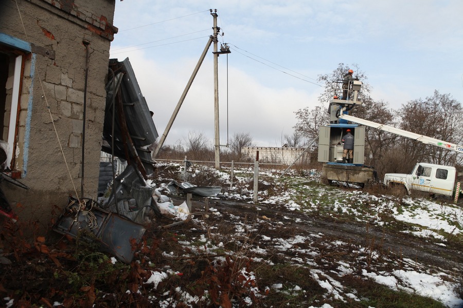
<path fill-rule="evenodd" d="M 372 98 L 395 109 L 434 90 L 461 102 L 461 0 L 117 0 L 111 58 L 129 57 L 159 135 L 212 34 L 209 9 L 217 9 L 219 42 L 231 50 L 219 56 L 220 144 L 228 131 L 281 146 L 294 112 L 318 104 L 318 75 L 339 63 L 359 65 Z M 212 50 L 165 144 L 195 132 L 212 145 Z"/>

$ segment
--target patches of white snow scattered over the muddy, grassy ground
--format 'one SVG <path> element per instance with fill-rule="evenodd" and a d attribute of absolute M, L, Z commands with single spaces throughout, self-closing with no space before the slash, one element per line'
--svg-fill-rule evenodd
<path fill-rule="evenodd" d="M 248 171 L 252 172 L 251 169 Z M 218 177 L 223 179 L 229 178 L 229 175 L 226 172 L 217 172 Z M 260 176 L 273 177 L 274 182 L 276 183 L 279 181 L 278 177 L 275 177 L 272 172 L 261 173 L 263 175 L 260 174 Z M 298 185 L 299 188 L 305 189 L 305 196 L 312 196 L 305 198 L 304 202 L 301 201 L 300 192 L 296 191 L 294 188 L 288 188 L 286 191 L 281 191 L 280 194 L 275 194 L 274 196 L 265 196 L 265 193 L 261 192 L 259 195 L 259 203 L 266 205 L 283 204 L 284 207 L 290 211 L 304 211 L 311 213 L 313 211 L 320 210 L 320 206 L 323 206 L 320 199 L 330 198 L 330 210 L 333 213 L 351 215 L 359 220 L 375 221 L 378 225 L 383 225 L 386 224 L 387 221 L 383 221 L 379 213 L 387 211 L 388 213 L 392 213 L 391 215 L 393 215 L 396 220 L 415 225 L 416 230 L 411 232 L 414 235 L 439 240 L 441 241 L 441 245 L 446 245 L 446 236 L 448 237 L 452 234 L 461 235 L 463 233 L 463 210 L 461 207 L 452 206 L 450 204 L 440 204 L 430 200 L 412 198 L 404 198 L 402 205 L 399 205 L 397 202 L 391 202 L 390 198 L 387 196 L 372 196 L 361 190 L 346 191 L 342 189 L 334 189 L 329 186 L 326 188 L 321 186 L 314 188 L 313 186 L 305 185 L 304 183 L 307 183 L 307 181 L 317 180 L 316 172 L 310 172 L 310 177 L 307 179 L 297 178 L 297 176 L 295 176 L 293 179 L 294 185 Z M 249 181 L 250 178 L 237 176 L 236 179 L 237 182 L 246 182 Z M 277 186 L 277 184 L 275 184 L 275 186 Z M 252 187 L 241 187 L 238 189 L 234 186 L 225 192 L 224 195 L 228 199 L 245 202 L 252 202 L 253 200 Z M 358 204 L 368 204 L 370 209 L 368 213 L 358 207 Z M 171 207 L 169 210 L 177 210 L 177 208 Z M 220 211 L 215 208 L 211 208 L 210 210 L 215 215 L 221 215 Z M 184 214 L 179 215 L 182 216 Z M 283 217 L 283 219 L 289 220 L 290 218 Z M 246 234 L 253 229 L 252 225 L 243 223 L 238 217 L 235 220 L 237 235 Z M 276 228 L 278 227 L 278 224 L 281 225 L 284 223 L 271 222 L 270 220 L 267 220 L 266 217 L 262 217 L 262 220 L 265 220 L 268 223 L 274 223 Z M 198 220 L 197 222 L 201 223 L 201 220 Z M 317 268 L 318 265 L 314 262 L 314 258 L 319 257 L 320 252 L 316 247 L 312 247 L 310 244 L 313 240 L 320 236 L 322 235 L 313 234 L 310 237 L 295 235 L 289 239 L 282 239 L 262 235 L 261 239 L 266 243 L 265 247 L 254 246 L 250 249 L 263 259 L 265 259 L 265 255 L 270 247 L 280 251 L 281 255 L 286 255 L 287 252 L 291 251 L 292 257 L 289 257 L 289 255 L 286 255 L 286 257 L 293 264 L 311 266 L 312 278 L 314 278 L 321 287 L 326 289 L 326 298 L 341 300 L 343 302 L 346 302 L 346 299 L 360 301 L 354 293 L 345 292 L 344 286 L 339 281 L 339 277 L 356 271 L 356 268 L 353 268 L 351 264 L 339 262 L 336 269 L 329 273 L 323 271 L 322 268 Z M 201 252 L 201 249 L 206 249 L 206 252 L 211 252 L 218 248 L 213 246 L 210 241 L 207 241 L 207 239 L 204 238 L 204 235 L 191 240 L 207 242 L 208 245 L 197 248 L 198 253 Z M 301 245 L 301 243 L 305 243 L 305 245 Z M 187 246 L 190 243 L 184 242 L 184 244 Z M 341 247 L 343 245 L 347 245 L 347 243 L 338 241 L 331 243 L 331 245 Z M 364 250 L 365 247 L 358 247 L 358 249 L 360 252 Z M 258 256 L 256 256 L 256 259 L 258 259 Z M 375 255 L 372 254 L 371 257 L 375 258 Z M 394 262 L 393 260 L 388 261 Z M 452 273 L 444 273 L 438 271 L 438 269 L 430 271 L 430 266 L 407 259 L 403 260 L 402 264 L 396 264 L 395 267 L 396 269 L 391 272 L 375 271 L 374 268 L 371 268 L 370 270 L 362 269 L 362 275 L 365 278 L 372 279 L 380 284 L 388 286 L 393 290 L 404 290 L 411 293 L 415 292 L 422 296 L 432 297 L 448 307 L 457 308 L 463 306 L 463 299 L 459 298 L 455 293 L 456 282 L 452 282 Z M 156 276 L 153 279 L 162 279 L 163 277 L 167 277 L 167 275 L 165 275 L 166 274 L 163 273 L 156 273 Z M 247 275 L 252 276 L 253 273 L 247 273 Z M 305 292 L 305 290 L 301 290 L 298 285 L 286 285 L 283 287 L 281 283 L 275 283 L 273 285 L 263 287 L 261 286 L 261 290 L 264 290 L 265 288 L 268 290 L 272 288 L 278 292 L 287 292 L 288 294 L 293 292 Z M 182 291 L 179 290 L 179 293 L 181 292 Z M 194 300 L 197 299 L 189 298 L 187 299 L 187 302 Z M 331 305 L 323 304 L 321 306 L 311 307 L 329 308 Z"/>

